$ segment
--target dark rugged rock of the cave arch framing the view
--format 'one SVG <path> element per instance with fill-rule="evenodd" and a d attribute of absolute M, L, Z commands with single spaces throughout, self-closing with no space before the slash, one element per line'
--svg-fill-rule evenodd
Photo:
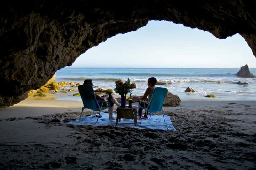
<path fill-rule="evenodd" d="M 8 1 L 0 19 L 0 107 L 27 97 L 86 50 L 149 20 L 167 20 L 209 31 L 239 33 L 256 56 L 255 1 Z"/>

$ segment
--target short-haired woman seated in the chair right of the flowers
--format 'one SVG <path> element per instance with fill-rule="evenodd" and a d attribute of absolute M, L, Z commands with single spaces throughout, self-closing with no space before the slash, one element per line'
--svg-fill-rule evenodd
<path fill-rule="evenodd" d="M 152 97 L 152 94 L 153 94 L 153 92 L 156 88 L 156 86 L 155 86 L 156 83 L 157 83 L 156 78 L 154 78 L 154 77 L 148 78 L 148 88 L 146 89 L 146 92 L 144 93 L 144 95 L 142 97 L 137 97 L 137 99 L 138 100 L 150 101 L 150 99 Z M 146 102 L 143 102 L 143 101 L 139 102 L 139 106 L 141 106 L 141 107 L 144 107 L 144 104 L 145 104 L 145 107 L 147 108 L 148 104 Z M 141 117 L 141 114 L 142 114 L 142 108 L 139 108 L 139 116 L 140 117 Z M 144 115 L 143 119 L 147 119 L 146 114 Z"/>

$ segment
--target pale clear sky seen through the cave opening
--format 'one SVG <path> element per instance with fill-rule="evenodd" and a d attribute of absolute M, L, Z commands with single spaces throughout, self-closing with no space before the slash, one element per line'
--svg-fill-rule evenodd
<path fill-rule="evenodd" d="M 256 68 L 239 34 L 218 39 L 207 31 L 169 21 L 149 21 L 80 55 L 70 67 Z"/>

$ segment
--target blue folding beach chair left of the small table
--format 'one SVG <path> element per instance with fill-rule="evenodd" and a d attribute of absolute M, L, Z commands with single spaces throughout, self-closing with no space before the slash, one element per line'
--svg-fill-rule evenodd
<path fill-rule="evenodd" d="M 99 103 L 96 100 L 96 96 L 95 96 L 94 90 L 91 85 L 79 85 L 78 91 L 81 95 L 81 98 L 82 98 L 82 101 L 84 104 L 84 107 L 82 107 L 82 112 L 81 112 L 81 115 L 79 118 L 79 122 L 80 122 L 80 119 L 81 119 L 84 109 L 91 109 L 91 110 L 93 110 L 95 118 L 96 118 L 95 111 L 99 111 L 97 121 L 95 123 L 93 123 L 93 124 L 96 124 L 100 117 L 101 110 L 105 110 L 106 108 L 108 108 L 108 104 L 107 104 L 107 107 L 102 107 L 103 102 L 102 102 L 101 106 L 99 105 Z M 105 102 L 108 102 L 108 100 L 105 100 Z M 108 108 L 108 114 L 109 114 L 109 108 Z M 110 117 L 110 120 L 111 120 L 111 117 Z"/>

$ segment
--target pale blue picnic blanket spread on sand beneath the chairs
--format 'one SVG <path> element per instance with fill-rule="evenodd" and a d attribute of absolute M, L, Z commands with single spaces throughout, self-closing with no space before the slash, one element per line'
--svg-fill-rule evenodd
<path fill-rule="evenodd" d="M 134 126 L 134 120 L 130 121 L 124 121 L 121 119 L 121 122 L 118 122 L 118 125 L 116 125 L 116 120 L 110 121 L 108 119 L 109 114 L 108 113 L 100 113 L 102 116 L 99 118 L 98 122 L 96 124 L 93 124 L 96 122 L 96 119 L 94 115 L 88 116 L 86 118 L 81 118 L 80 122 L 79 120 L 76 121 L 70 121 L 67 124 L 70 125 L 84 125 L 84 126 L 116 126 L 116 127 L 130 127 L 130 128 L 137 128 L 137 129 L 159 129 L 159 130 L 169 130 L 169 131 L 176 131 L 176 129 L 173 127 L 172 122 L 170 120 L 170 117 L 167 115 L 153 115 L 151 116 L 148 123 L 147 120 L 137 120 L 137 126 Z M 113 116 L 116 117 L 116 114 L 113 113 Z M 164 122 L 165 118 L 165 122 Z"/>

